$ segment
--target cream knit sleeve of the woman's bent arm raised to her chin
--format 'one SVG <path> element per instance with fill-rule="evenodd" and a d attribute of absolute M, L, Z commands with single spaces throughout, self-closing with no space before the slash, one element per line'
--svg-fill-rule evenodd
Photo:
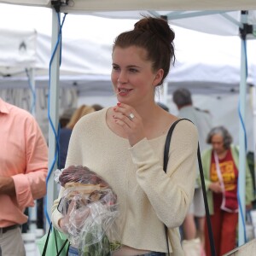
<path fill-rule="evenodd" d="M 195 189 L 198 135 L 195 125 L 181 121 L 172 133 L 166 173 L 162 160 L 145 138 L 132 148 L 137 183 L 148 196 L 158 218 L 168 228 L 183 223 Z"/>

